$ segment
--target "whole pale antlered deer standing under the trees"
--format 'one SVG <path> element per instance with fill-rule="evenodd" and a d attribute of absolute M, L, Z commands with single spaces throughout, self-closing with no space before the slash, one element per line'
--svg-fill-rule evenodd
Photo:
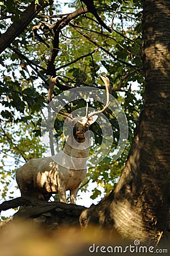
<path fill-rule="evenodd" d="M 58 112 L 52 101 L 56 79 L 51 77 L 48 97 L 50 106 Z M 66 203 L 66 191 L 70 191 L 70 203 L 76 204 L 79 185 L 87 173 L 86 162 L 90 151 L 90 139 L 86 135 L 89 127 L 94 123 L 99 113 L 103 113 L 109 106 L 109 79 L 101 76 L 107 91 L 107 102 L 103 109 L 88 113 L 85 117 L 74 117 L 73 114 L 59 110 L 63 119 L 71 126 L 71 133 L 62 151 L 54 156 L 28 160 L 24 166 L 16 170 L 16 181 L 21 196 L 31 196 L 39 200 L 48 201 L 52 194 L 59 195 L 59 201 Z"/>

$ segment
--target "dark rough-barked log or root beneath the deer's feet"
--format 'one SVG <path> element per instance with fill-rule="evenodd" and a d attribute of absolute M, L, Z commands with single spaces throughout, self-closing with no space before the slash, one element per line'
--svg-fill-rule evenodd
<path fill-rule="evenodd" d="M 14 214 L 13 220 L 28 220 L 32 219 L 42 226 L 46 226 L 48 230 L 57 229 L 60 226 L 75 226 L 79 225 L 79 216 L 86 207 L 75 204 L 64 204 L 60 202 L 45 202 L 34 199 L 33 197 L 25 196 L 18 197 L 9 201 L 5 201 L 0 205 L 0 213 L 2 210 L 19 207 L 18 212 Z M 8 224 L 0 222 L 1 227 Z"/>

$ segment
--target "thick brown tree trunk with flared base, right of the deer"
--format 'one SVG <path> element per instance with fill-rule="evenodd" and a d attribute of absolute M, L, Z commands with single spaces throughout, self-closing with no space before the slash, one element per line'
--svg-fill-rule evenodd
<path fill-rule="evenodd" d="M 117 187 L 85 210 L 82 226 L 110 226 L 121 237 L 159 242 L 168 228 L 170 169 L 170 5 L 143 1 L 145 101 L 128 160 Z"/>

